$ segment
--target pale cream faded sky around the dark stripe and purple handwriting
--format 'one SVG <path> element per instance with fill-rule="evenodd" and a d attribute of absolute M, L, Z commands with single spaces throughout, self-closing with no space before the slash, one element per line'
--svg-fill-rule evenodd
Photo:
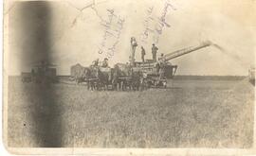
<path fill-rule="evenodd" d="M 96 58 L 105 58 L 99 54 L 99 46 L 105 28 L 102 20 L 108 20 L 107 9 L 113 9 L 117 16 L 124 19 L 116 44 L 114 56 L 109 59 L 111 65 L 126 62 L 130 55 L 130 38 L 136 37 L 138 47 L 136 60 L 140 61 L 140 45 L 146 49 L 146 59 L 151 59 L 151 37 L 147 43 L 141 42 L 141 33 L 145 30 L 144 20 L 147 9 L 154 7 L 152 16 L 160 17 L 164 10 L 164 0 L 108 0 L 95 1 L 58 1 L 50 2 L 50 47 L 53 62 L 58 64 L 58 73 L 68 75 L 70 66 L 79 62 L 88 65 Z M 206 40 L 217 43 L 225 52 L 208 47 L 186 56 L 174 59 L 179 75 L 247 75 L 250 65 L 255 63 L 256 13 L 253 0 L 170 0 L 174 9 L 167 9 L 164 26 L 156 46 L 160 53 L 196 45 Z M 21 58 L 33 40 L 32 33 L 24 33 L 20 28 L 22 18 L 19 15 L 20 3 L 10 3 L 6 7 L 9 18 L 9 75 L 19 75 L 29 70 L 29 65 L 40 58 L 27 60 Z M 44 14 L 44 13 L 43 13 Z M 23 17 L 23 18 L 29 18 Z M 7 19 L 6 19 L 7 20 Z M 155 26 L 155 23 L 151 25 Z M 7 31 L 6 31 L 7 32 Z M 111 42 L 109 39 L 106 42 Z M 115 41 L 114 41 L 115 42 Z M 27 46 L 25 46 L 27 44 Z M 21 65 L 22 64 L 22 65 Z"/>

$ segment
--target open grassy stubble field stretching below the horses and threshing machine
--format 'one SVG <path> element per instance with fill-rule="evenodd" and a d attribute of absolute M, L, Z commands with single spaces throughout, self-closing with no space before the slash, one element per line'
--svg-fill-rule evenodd
<path fill-rule="evenodd" d="M 247 79 L 169 84 L 91 92 L 9 78 L 9 147 L 252 146 L 254 88 Z"/>

